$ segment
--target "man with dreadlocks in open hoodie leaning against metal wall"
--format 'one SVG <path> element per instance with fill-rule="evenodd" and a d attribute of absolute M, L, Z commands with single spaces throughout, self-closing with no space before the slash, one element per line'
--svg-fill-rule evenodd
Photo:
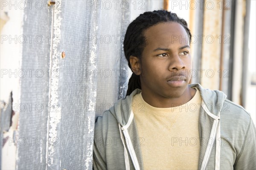
<path fill-rule="evenodd" d="M 125 34 L 133 75 L 125 99 L 98 117 L 94 169 L 255 169 L 255 126 L 218 90 L 189 84 L 191 33 L 159 10 Z"/>

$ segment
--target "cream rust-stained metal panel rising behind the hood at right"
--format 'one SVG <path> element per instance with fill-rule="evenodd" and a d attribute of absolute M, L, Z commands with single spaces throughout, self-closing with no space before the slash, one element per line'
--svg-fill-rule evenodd
<path fill-rule="evenodd" d="M 221 1 L 220 1 L 221 2 Z M 223 8 L 219 1 L 204 2 L 204 27 L 201 60 L 201 84 L 209 89 L 219 89 L 220 36 Z"/>

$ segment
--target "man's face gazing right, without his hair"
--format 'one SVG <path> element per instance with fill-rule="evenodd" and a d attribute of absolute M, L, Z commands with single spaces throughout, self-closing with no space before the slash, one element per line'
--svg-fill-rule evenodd
<path fill-rule="evenodd" d="M 192 59 L 183 26 L 175 22 L 159 23 L 145 31 L 145 38 L 140 61 L 143 93 L 156 98 L 186 96 Z"/>

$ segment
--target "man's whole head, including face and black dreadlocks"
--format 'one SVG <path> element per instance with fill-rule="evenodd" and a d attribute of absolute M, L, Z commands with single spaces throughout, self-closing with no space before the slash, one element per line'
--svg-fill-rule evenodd
<path fill-rule="evenodd" d="M 148 98 L 183 98 L 192 69 L 191 33 L 185 20 L 165 10 L 140 14 L 124 40 L 125 57 L 133 75 L 127 95 L 143 90 Z"/>

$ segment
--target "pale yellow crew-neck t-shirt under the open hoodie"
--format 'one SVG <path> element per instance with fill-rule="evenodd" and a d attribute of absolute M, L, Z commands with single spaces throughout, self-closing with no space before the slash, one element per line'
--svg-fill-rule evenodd
<path fill-rule="evenodd" d="M 145 170 L 198 169 L 200 140 L 198 118 L 201 95 L 178 107 L 157 108 L 147 104 L 141 93 L 133 98 Z"/>

